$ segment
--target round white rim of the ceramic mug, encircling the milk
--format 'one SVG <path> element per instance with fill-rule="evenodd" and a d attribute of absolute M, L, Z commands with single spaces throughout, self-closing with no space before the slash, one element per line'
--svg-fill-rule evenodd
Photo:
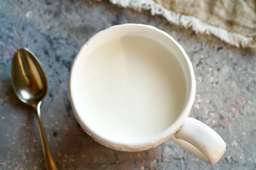
<path fill-rule="evenodd" d="M 127 26 L 134 26 L 134 27 L 143 27 L 143 28 L 148 28 L 151 29 L 152 31 L 157 31 L 160 34 L 163 34 L 165 37 L 167 37 L 170 41 L 172 41 L 174 43 L 174 45 L 178 48 L 178 50 L 180 51 L 180 53 L 182 54 L 183 58 L 186 61 L 186 68 L 188 68 L 189 70 L 189 89 L 188 89 L 188 97 L 186 99 L 185 102 L 185 106 L 183 108 L 183 110 L 180 112 L 180 115 L 178 116 L 178 118 L 175 120 L 174 123 L 172 123 L 172 125 L 170 125 L 166 130 L 164 130 L 163 132 L 157 134 L 154 137 L 148 138 L 145 141 L 140 141 L 140 142 L 116 142 L 110 139 L 105 138 L 104 136 L 100 135 L 99 133 L 97 133 L 96 131 L 94 131 L 92 128 L 90 128 L 87 123 L 85 121 L 83 121 L 83 119 L 79 116 L 79 113 L 76 109 L 76 104 L 73 103 L 73 95 L 72 95 L 72 90 L 71 90 L 71 82 L 72 82 L 72 74 L 73 74 L 73 69 L 76 66 L 76 60 L 79 57 L 79 53 L 81 52 L 81 50 L 83 48 L 86 48 L 86 46 L 88 45 L 88 43 L 93 40 L 95 37 L 97 37 L 99 34 L 102 34 L 104 31 L 106 30 L 110 30 L 110 29 L 115 29 L 115 28 L 120 28 L 120 27 L 127 27 Z M 192 63 L 189 59 L 189 57 L 187 56 L 185 50 L 183 49 L 183 47 L 176 42 L 176 40 L 171 37 L 169 34 L 167 34 L 166 32 L 154 27 L 154 26 L 149 26 L 149 25 L 144 25 L 144 24 L 134 24 L 134 23 L 128 23 L 128 24 L 122 24 L 122 25 L 116 25 L 116 26 L 111 26 L 109 28 L 106 28 L 102 31 L 99 31 L 98 33 L 94 34 L 84 45 L 81 46 L 81 48 L 79 49 L 79 52 L 76 54 L 76 57 L 73 60 L 73 63 L 71 65 L 70 68 L 70 76 L 69 76 L 69 82 L 68 82 L 68 93 L 69 93 L 69 99 L 70 99 L 70 103 L 73 109 L 73 114 L 75 116 L 75 118 L 77 119 L 77 121 L 79 122 L 80 126 L 90 135 L 92 136 L 94 139 L 97 140 L 97 142 L 101 142 L 101 144 L 104 144 L 105 146 L 119 146 L 119 147 L 125 147 L 126 149 L 132 148 L 132 147 L 140 147 L 140 146 L 147 146 L 150 144 L 154 144 L 154 143 L 163 143 L 166 139 L 168 139 L 169 137 L 171 137 L 172 135 L 174 135 L 177 130 L 179 130 L 179 128 L 182 126 L 183 122 L 186 120 L 186 118 L 188 118 L 189 113 L 192 109 L 192 105 L 194 103 L 195 100 L 195 88 L 196 88 L 196 82 L 195 82 L 195 74 L 194 74 L 194 70 L 192 67 Z M 159 144 L 160 144 L 159 143 Z"/>

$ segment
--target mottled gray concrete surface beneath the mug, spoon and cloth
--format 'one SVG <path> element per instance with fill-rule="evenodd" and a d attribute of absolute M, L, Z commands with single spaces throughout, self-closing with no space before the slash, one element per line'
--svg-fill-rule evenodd
<path fill-rule="evenodd" d="M 217 164 L 206 164 L 171 141 L 140 153 L 118 152 L 97 144 L 78 126 L 67 94 L 71 62 L 93 34 L 122 23 L 155 26 L 183 46 L 197 80 L 190 116 L 227 143 Z M 256 53 L 145 11 L 92 0 L 0 0 L 0 170 L 45 169 L 35 115 L 11 87 L 11 59 L 21 47 L 38 56 L 48 77 L 42 120 L 60 170 L 256 170 Z"/>

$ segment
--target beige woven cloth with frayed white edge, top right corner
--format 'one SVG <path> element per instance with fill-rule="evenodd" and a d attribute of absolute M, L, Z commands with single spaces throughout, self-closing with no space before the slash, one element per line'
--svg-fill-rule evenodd
<path fill-rule="evenodd" d="M 150 10 L 170 23 L 212 34 L 224 42 L 256 49 L 256 0 L 110 0 L 122 7 Z"/>

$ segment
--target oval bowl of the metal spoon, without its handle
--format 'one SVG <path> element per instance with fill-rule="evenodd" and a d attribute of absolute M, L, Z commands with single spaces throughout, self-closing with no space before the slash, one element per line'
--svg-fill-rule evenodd
<path fill-rule="evenodd" d="M 12 86 L 18 98 L 35 108 L 47 95 L 47 78 L 40 62 L 26 48 L 17 50 L 12 58 Z"/>

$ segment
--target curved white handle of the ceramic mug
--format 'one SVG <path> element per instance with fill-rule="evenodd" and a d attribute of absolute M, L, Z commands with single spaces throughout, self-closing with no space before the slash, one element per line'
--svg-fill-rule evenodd
<path fill-rule="evenodd" d="M 226 150 L 226 144 L 218 133 L 191 117 L 185 120 L 170 140 L 210 164 L 217 163 Z"/>

